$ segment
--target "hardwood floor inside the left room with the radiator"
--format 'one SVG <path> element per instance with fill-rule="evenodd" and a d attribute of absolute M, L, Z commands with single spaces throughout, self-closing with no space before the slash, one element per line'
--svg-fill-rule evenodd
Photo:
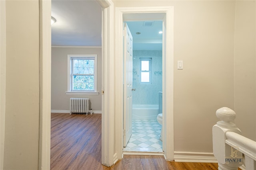
<path fill-rule="evenodd" d="M 101 114 L 51 116 L 51 170 L 100 170 Z"/>

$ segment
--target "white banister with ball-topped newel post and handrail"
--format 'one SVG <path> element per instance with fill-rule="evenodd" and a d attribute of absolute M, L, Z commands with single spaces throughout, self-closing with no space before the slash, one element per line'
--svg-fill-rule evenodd
<path fill-rule="evenodd" d="M 218 169 L 237 170 L 244 163 L 246 170 L 256 170 L 256 142 L 241 135 L 234 123 L 236 113 L 222 107 L 216 116 L 221 121 L 212 127 L 212 142 Z"/>

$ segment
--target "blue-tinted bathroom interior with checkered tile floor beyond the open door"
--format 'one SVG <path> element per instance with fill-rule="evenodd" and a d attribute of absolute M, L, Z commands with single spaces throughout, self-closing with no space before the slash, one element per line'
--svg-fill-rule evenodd
<path fill-rule="evenodd" d="M 162 125 L 157 117 L 162 110 L 162 34 L 159 33 L 162 21 L 133 21 L 127 25 L 133 37 L 135 91 L 132 92 L 132 136 L 123 151 L 161 153 Z M 145 29 L 150 31 L 152 27 L 157 33 L 145 33 Z"/>

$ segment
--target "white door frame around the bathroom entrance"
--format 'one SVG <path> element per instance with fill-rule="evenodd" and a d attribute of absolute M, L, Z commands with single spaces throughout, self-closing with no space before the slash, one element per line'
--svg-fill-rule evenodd
<path fill-rule="evenodd" d="M 131 14 L 131 15 L 126 15 Z M 134 18 L 135 17 L 135 18 Z M 163 150 L 166 160 L 174 160 L 174 7 L 116 8 L 116 149 L 122 155 L 124 116 L 123 22 L 135 20 L 163 21 Z M 168 47 L 168 48 L 166 48 Z M 120 57 L 122 56 L 122 57 Z M 167 57 L 168 56 L 168 57 Z M 168 65 L 166 64 L 168 63 Z M 168 94 L 168 95 L 166 95 Z M 168 113 L 168 114 L 167 114 Z M 168 122 L 168 123 L 167 123 Z"/>

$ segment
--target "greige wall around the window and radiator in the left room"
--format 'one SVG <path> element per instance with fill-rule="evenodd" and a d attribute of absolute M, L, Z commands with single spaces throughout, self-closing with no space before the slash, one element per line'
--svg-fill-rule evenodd
<path fill-rule="evenodd" d="M 52 110 L 69 110 L 70 98 L 90 98 L 90 108 L 101 112 L 101 47 L 52 47 Z M 97 66 L 97 90 L 99 95 L 67 95 L 68 90 L 68 55 L 72 54 L 96 54 Z"/>

